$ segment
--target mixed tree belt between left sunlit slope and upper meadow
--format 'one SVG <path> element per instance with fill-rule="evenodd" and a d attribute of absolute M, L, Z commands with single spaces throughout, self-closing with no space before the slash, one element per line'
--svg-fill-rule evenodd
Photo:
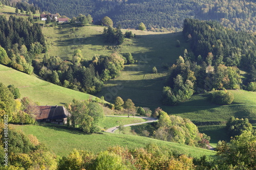
<path fill-rule="evenodd" d="M 34 60 L 33 66 L 35 72 L 49 82 L 94 94 L 101 90 L 104 81 L 120 76 L 125 63 L 133 62 L 131 54 L 118 53 L 94 56 L 87 61 L 80 50 L 75 50 L 72 60 L 50 57 L 46 53 L 42 61 Z"/>

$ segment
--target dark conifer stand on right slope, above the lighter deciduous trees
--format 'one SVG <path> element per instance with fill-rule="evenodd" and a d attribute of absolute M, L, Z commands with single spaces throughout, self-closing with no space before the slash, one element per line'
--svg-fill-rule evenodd
<path fill-rule="evenodd" d="M 256 81 L 256 39 L 252 34 L 224 28 L 216 21 L 197 19 L 184 20 L 183 34 L 195 54 L 192 61 L 199 64 L 204 61 L 208 66 L 219 65 L 219 70 L 226 69 L 221 64 L 237 66 L 248 71 L 245 85 Z"/>

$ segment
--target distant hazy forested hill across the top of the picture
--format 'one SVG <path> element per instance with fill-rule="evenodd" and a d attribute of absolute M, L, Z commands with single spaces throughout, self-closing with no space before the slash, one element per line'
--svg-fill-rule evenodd
<path fill-rule="evenodd" d="M 68 17 L 91 14 L 94 22 L 109 16 L 114 26 L 137 28 L 144 22 L 147 29 L 181 30 L 185 18 L 219 20 L 224 26 L 240 30 L 256 31 L 256 3 L 250 0 L 29 0 L 42 11 L 59 13 Z"/>

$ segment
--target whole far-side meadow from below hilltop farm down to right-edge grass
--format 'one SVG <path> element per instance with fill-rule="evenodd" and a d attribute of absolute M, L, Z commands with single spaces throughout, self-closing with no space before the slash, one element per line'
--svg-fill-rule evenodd
<path fill-rule="evenodd" d="M 77 31 L 73 32 L 72 27 L 77 28 Z M 114 80 L 104 82 L 102 91 L 96 96 L 104 96 L 109 102 L 114 102 L 116 96 L 124 100 L 132 99 L 136 106 L 149 107 L 152 110 L 161 107 L 168 114 L 189 118 L 196 124 L 225 122 L 230 116 L 256 120 L 255 92 L 244 90 L 230 90 L 235 98 L 231 105 L 215 105 L 207 100 L 207 94 L 195 94 L 178 106 L 163 106 L 161 104 L 162 88 L 167 86 L 168 72 L 163 66 L 171 66 L 175 63 L 178 56 L 183 56 L 185 48 L 190 51 L 189 44 L 181 32 L 129 31 L 135 33 L 136 37 L 125 38 L 124 43 L 115 51 L 121 54 L 130 52 L 138 62 L 125 65 L 121 75 Z M 48 52 L 50 56 L 71 59 L 73 51 L 80 49 L 83 58 L 91 60 L 95 55 L 108 55 L 113 52 L 101 36 L 103 32 L 101 26 L 80 27 L 62 24 L 55 28 L 45 27 L 43 32 L 51 43 Z M 180 41 L 180 47 L 176 46 L 176 40 Z M 158 74 L 152 73 L 154 66 L 157 67 Z"/>

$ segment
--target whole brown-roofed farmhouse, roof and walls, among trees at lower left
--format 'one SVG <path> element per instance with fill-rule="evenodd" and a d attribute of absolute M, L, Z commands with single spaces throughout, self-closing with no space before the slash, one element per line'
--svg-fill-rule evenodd
<path fill-rule="evenodd" d="M 71 115 L 63 106 L 37 106 L 39 114 L 35 118 L 37 122 L 45 122 L 63 125 L 67 124 L 67 118 Z"/>

